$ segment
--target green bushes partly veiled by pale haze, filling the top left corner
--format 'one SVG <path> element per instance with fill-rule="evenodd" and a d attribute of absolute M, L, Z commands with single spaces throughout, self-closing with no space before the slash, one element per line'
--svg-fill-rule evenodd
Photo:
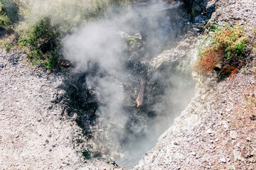
<path fill-rule="evenodd" d="M 130 0 L 0 0 L 0 28 L 15 38 L 0 40 L 6 50 L 23 50 L 28 60 L 47 69 L 60 69 L 61 38 L 74 29 L 106 16 L 110 6 Z"/>

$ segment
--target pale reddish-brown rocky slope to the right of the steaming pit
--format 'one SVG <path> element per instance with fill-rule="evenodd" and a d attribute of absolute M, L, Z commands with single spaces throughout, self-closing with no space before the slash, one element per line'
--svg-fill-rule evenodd
<path fill-rule="evenodd" d="M 209 23 L 243 22 L 252 35 L 255 19 L 255 1 L 220 0 Z M 255 71 L 245 70 L 199 83 L 186 110 L 134 169 L 255 169 Z"/>

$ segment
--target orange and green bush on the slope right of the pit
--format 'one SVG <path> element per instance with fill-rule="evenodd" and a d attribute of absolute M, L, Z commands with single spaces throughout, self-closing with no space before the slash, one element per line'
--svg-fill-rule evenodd
<path fill-rule="evenodd" d="M 235 75 L 247 59 L 247 37 L 240 26 L 225 26 L 220 28 L 213 25 L 210 45 L 199 54 L 196 70 L 203 75 L 216 71 L 220 78 Z"/>

